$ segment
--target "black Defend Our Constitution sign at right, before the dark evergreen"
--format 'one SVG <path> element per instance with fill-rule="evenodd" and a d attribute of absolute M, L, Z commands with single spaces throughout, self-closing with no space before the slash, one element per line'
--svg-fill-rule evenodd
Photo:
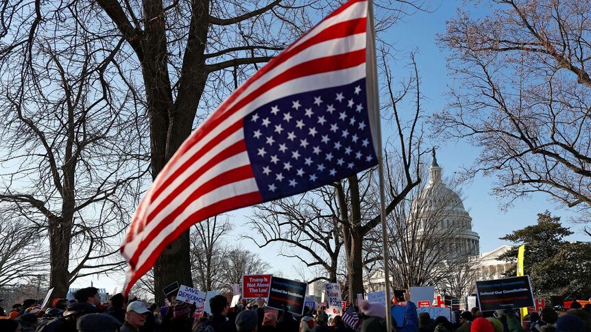
<path fill-rule="evenodd" d="M 476 282 L 481 311 L 533 307 L 529 276 Z"/>

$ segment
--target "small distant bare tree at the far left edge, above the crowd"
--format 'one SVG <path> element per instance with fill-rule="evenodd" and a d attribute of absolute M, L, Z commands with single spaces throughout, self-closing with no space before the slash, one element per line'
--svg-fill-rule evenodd
<path fill-rule="evenodd" d="M 0 297 L 47 277 L 47 250 L 36 227 L 20 218 L 0 216 Z"/>

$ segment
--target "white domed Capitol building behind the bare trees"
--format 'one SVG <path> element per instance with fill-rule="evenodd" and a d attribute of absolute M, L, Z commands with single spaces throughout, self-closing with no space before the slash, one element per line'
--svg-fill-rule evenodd
<path fill-rule="evenodd" d="M 503 273 L 511 268 L 512 263 L 497 259 L 511 246 L 500 246 L 493 251 L 480 253 L 480 236 L 472 231 L 472 217 L 464 208 L 459 194 L 442 181 L 442 168 L 437 164 L 435 151 L 429 167 L 429 183 L 411 205 L 407 224 L 413 225 L 415 222 L 418 222 L 418 231 L 414 235 L 416 241 L 420 242 L 429 236 L 442 239 L 437 245 L 444 247 L 435 250 L 437 254 L 433 259 L 438 260 L 437 264 L 442 269 L 447 267 L 444 273 L 453 273 L 454 270 L 449 267 L 457 266 L 456 272 L 466 274 L 466 278 L 470 278 L 469 283 L 475 285 L 477 280 L 502 278 Z M 365 277 L 365 290 L 384 290 L 384 281 L 383 270 L 375 270 Z M 445 281 L 438 281 L 433 286 L 439 290 L 439 294 L 451 288 Z M 466 294 L 462 296 L 472 292 L 472 287 L 466 287 Z"/>

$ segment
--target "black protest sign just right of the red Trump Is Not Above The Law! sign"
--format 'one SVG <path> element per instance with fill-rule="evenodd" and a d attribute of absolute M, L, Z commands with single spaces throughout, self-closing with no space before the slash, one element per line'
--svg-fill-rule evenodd
<path fill-rule="evenodd" d="M 306 290 L 308 290 L 308 283 L 272 277 L 267 307 L 282 310 L 285 305 L 285 309 L 292 314 L 302 315 Z"/>

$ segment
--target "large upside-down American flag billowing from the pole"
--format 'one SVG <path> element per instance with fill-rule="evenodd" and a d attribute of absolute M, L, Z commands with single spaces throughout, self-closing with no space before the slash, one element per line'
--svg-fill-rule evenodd
<path fill-rule="evenodd" d="M 234 91 L 158 174 L 121 253 L 125 294 L 195 222 L 377 164 L 367 1 L 324 18 Z"/>

